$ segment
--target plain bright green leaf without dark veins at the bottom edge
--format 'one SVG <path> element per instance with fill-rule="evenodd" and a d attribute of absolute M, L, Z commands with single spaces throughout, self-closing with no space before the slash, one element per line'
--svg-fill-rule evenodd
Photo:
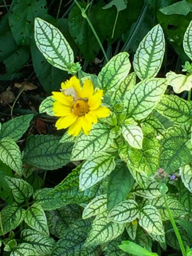
<path fill-rule="evenodd" d="M 158 256 L 157 253 L 149 252 L 145 248 L 131 241 L 122 241 L 122 244 L 119 245 L 119 248 L 124 252 L 128 252 L 137 256 Z"/>

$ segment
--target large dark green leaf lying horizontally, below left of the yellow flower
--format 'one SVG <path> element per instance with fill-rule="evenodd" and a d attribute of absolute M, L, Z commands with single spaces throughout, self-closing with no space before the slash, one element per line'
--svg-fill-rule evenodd
<path fill-rule="evenodd" d="M 54 170 L 70 162 L 72 144 L 59 144 L 60 137 L 32 135 L 26 141 L 23 160 L 38 168 Z"/>

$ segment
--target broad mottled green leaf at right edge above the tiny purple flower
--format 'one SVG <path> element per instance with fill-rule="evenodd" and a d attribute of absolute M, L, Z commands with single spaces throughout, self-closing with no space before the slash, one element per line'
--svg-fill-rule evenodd
<path fill-rule="evenodd" d="M 188 164 L 191 160 L 191 153 L 186 142 L 188 134 L 178 126 L 170 127 L 166 130 L 161 143 L 160 166 L 170 173 L 180 166 Z"/>

